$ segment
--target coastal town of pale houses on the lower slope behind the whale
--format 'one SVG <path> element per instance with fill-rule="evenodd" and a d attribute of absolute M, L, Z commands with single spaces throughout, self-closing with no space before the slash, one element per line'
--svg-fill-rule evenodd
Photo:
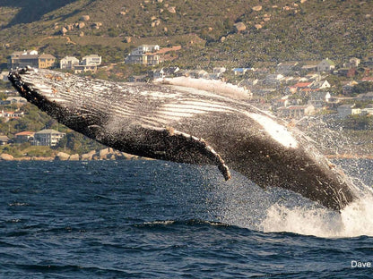
<path fill-rule="evenodd" d="M 313 62 L 288 61 L 277 63 L 272 68 L 227 69 L 221 65 L 221 67 L 203 70 L 182 69 L 178 66 L 163 67 L 162 63 L 170 60 L 169 52 L 178 52 L 180 49 L 181 46 L 141 45 L 124 55 L 123 61 L 118 63 L 147 67 L 143 74 L 129 76 L 126 80 L 128 82 L 149 82 L 184 76 L 193 79 L 223 80 L 236 84 L 246 89 L 247 102 L 289 121 L 315 114 L 331 114 L 339 119 L 352 115 L 373 114 L 373 57 L 367 61 L 346 57 L 343 64 L 336 64 L 327 57 Z M 17 51 L 9 55 L 8 69 L 25 66 L 84 75 L 108 67 L 102 63 L 102 57 L 98 54 L 83 57 L 65 55 L 59 60 L 53 55 L 39 54 L 36 50 Z M 152 70 L 149 70 L 149 67 Z M 7 81 L 7 73 L 7 71 L 1 73 L 0 78 L 3 83 Z M 19 97 L 13 89 L 3 90 L 2 93 L 4 96 L 0 100 L 2 123 L 27 117 L 27 113 L 23 111 L 27 103 L 24 98 Z M 27 142 L 31 146 L 54 148 L 64 137 L 65 132 L 53 129 L 3 132 L 0 134 L 0 145 Z M 65 156 L 61 157 L 65 158 Z M 79 156 L 78 159 L 87 157 L 90 156 Z M 102 156 L 96 157 L 102 158 Z"/>

